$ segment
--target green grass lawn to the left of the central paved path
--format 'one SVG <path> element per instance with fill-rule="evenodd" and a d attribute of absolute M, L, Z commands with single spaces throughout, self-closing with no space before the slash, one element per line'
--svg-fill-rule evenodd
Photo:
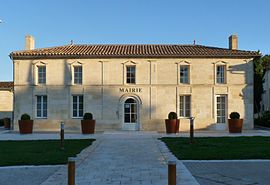
<path fill-rule="evenodd" d="M 60 150 L 60 140 L 0 141 L 0 166 L 66 164 L 93 141 L 65 140 L 65 150 Z"/>

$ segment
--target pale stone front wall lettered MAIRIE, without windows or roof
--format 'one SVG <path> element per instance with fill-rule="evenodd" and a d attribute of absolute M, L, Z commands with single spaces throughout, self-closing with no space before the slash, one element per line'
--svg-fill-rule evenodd
<path fill-rule="evenodd" d="M 217 96 L 225 97 L 226 122 L 230 112 L 244 118 L 244 128 L 253 128 L 252 58 L 58 58 L 14 59 L 14 129 L 28 113 L 35 131 L 59 130 L 64 121 L 69 131 L 80 130 L 80 118 L 72 118 L 72 96 L 83 95 L 83 112 L 92 112 L 97 130 L 135 129 L 164 131 L 170 111 L 179 113 L 181 95 L 191 97 L 191 115 L 196 129 L 227 129 L 217 123 Z M 46 84 L 37 83 L 36 67 L 46 66 Z M 72 67 L 82 66 L 82 84 L 74 85 Z M 180 66 L 189 66 L 188 84 L 181 84 Z M 216 66 L 225 66 L 224 84 L 216 83 Z M 126 83 L 126 66 L 136 66 L 136 84 Z M 46 95 L 47 118 L 36 118 L 37 96 Z M 124 103 L 137 103 L 136 127 L 125 127 Z M 180 130 L 189 129 L 189 119 L 180 117 Z"/>

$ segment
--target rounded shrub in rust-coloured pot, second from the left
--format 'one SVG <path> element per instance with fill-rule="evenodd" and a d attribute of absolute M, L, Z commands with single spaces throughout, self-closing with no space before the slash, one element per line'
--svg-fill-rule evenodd
<path fill-rule="evenodd" d="M 81 128 L 83 134 L 95 133 L 96 120 L 93 119 L 92 113 L 85 113 L 83 120 L 81 120 Z"/>

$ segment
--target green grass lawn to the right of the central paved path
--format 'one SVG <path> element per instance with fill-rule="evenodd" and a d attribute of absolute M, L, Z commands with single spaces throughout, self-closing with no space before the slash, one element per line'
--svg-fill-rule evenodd
<path fill-rule="evenodd" d="M 270 159 L 270 137 L 161 138 L 170 151 L 182 160 Z"/>

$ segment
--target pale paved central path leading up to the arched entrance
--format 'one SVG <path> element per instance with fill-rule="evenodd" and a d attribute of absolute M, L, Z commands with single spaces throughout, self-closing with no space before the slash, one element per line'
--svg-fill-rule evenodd
<path fill-rule="evenodd" d="M 168 157 L 165 156 L 165 147 L 157 138 L 156 133 L 140 132 L 99 135 L 96 143 L 78 157 L 76 185 L 167 184 Z M 177 172 L 177 184 L 197 184 L 179 161 Z M 66 173 L 66 168 L 62 168 L 43 185 L 67 184 Z"/>

